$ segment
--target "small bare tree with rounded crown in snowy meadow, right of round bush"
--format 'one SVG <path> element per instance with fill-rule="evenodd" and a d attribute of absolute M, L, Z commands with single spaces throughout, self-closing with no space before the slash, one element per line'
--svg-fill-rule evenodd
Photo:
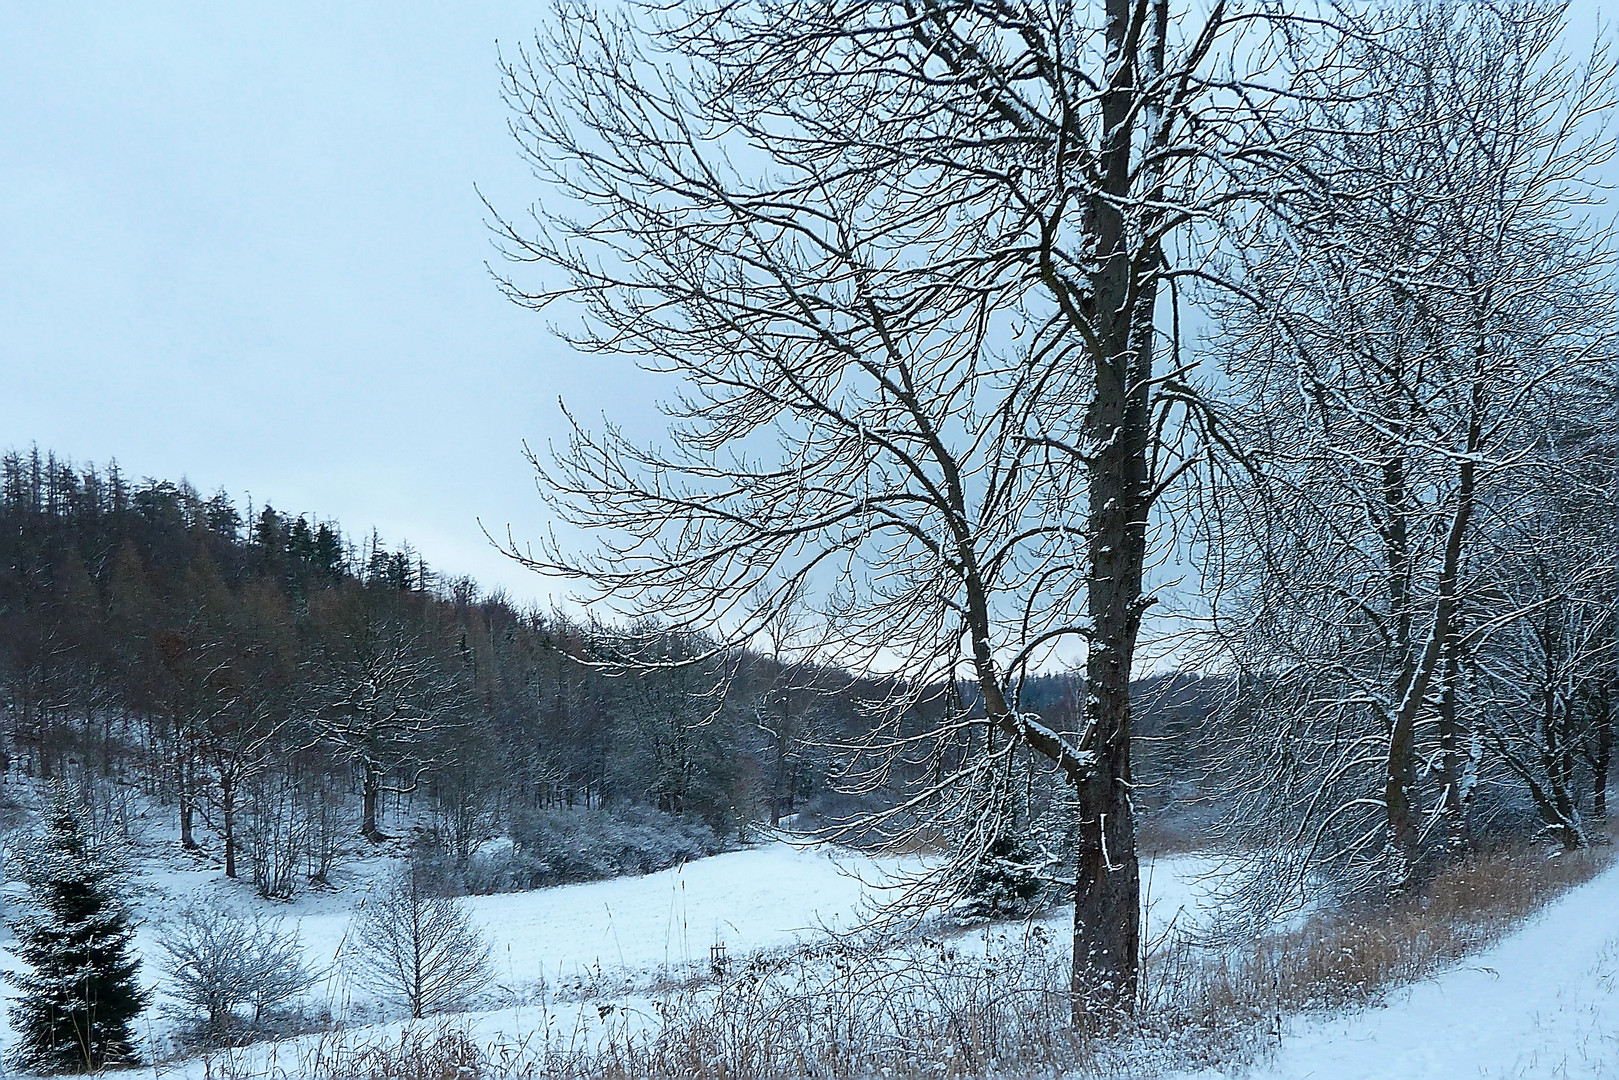
<path fill-rule="evenodd" d="M 356 975 L 421 1020 L 463 1006 L 494 980 L 489 946 L 452 897 L 406 866 L 366 899 L 355 928 Z"/>

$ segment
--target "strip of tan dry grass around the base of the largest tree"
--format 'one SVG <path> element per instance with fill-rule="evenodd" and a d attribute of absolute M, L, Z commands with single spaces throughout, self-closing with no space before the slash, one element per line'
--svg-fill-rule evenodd
<path fill-rule="evenodd" d="M 835 942 L 740 965 L 719 984 L 672 988 L 648 1033 L 479 1046 L 465 1028 L 395 1040 L 322 1040 L 295 1069 L 217 1059 L 209 1077 L 309 1080 L 763 1080 L 766 1077 L 1151 1075 L 1243 1061 L 1279 1020 L 1375 999 L 1499 939 L 1611 860 L 1496 848 L 1417 895 L 1310 918 L 1235 949 L 1190 941 L 1149 957 L 1140 1015 L 1107 1038 L 1069 1022 L 1067 949 L 1039 926 L 957 941 Z"/>

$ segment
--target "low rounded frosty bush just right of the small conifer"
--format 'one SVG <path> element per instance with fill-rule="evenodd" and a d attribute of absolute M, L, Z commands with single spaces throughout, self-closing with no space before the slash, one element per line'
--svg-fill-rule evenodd
<path fill-rule="evenodd" d="M 157 946 L 168 993 L 180 1002 L 170 1012 L 201 1020 L 212 1041 L 259 1030 L 316 978 L 303 963 L 298 933 L 257 912 L 243 918 L 215 904 L 188 904 L 164 925 Z M 241 1007 L 251 1007 L 251 1017 L 238 1015 Z"/>

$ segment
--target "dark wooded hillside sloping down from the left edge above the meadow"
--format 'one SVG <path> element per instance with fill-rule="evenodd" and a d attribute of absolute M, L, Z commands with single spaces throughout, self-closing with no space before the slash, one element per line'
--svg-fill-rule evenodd
<path fill-rule="evenodd" d="M 400 805 L 453 865 L 510 837 L 491 887 L 589 873 L 559 831 L 648 870 L 798 810 L 855 722 L 840 672 L 690 662 L 691 635 L 523 610 L 330 521 L 39 450 L 0 471 L 0 764 L 113 814 L 139 790 L 269 895 Z"/>

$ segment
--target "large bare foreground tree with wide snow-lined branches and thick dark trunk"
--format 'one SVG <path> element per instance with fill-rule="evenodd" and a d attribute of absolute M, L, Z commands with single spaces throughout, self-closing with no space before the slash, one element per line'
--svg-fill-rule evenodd
<path fill-rule="evenodd" d="M 1043 763 L 1078 803 L 1075 1014 L 1128 1009 L 1149 521 L 1205 452 L 1159 301 L 1177 238 L 1245 198 L 1229 170 L 1285 165 L 1263 125 L 1298 76 L 1284 37 L 1169 0 L 581 3 L 555 26 L 505 73 L 549 185 L 531 228 L 500 222 L 542 267 L 507 285 L 678 397 L 651 447 L 575 427 L 536 460 L 601 546 L 525 557 L 716 649 L 803 602 L 819 659 L 894 672 L 863 761 L 957 840 L 941 887 Z M 1088 696 L 1059 732 L 1017 687 L 1065 648 Z M 973 708 L 902 722 L 957 680 Z"/>

